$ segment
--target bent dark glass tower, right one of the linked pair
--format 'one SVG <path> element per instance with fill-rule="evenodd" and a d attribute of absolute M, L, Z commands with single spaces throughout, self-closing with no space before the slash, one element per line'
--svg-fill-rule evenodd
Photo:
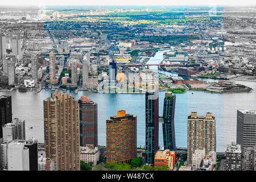
<path fill-rule="evenodd" d="M 174 128 L 174 113 L 175 113 L 176 96 L 172 96 L 171 92 L 165 93 L 164 109 L 163 109 L 163 140 L 164 149 L 171 151 L 176 150 L 175 128 Z"/>

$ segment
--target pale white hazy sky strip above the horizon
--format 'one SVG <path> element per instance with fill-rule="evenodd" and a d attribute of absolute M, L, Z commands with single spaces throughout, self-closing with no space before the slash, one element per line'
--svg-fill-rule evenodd
<path fill-rule="evenodd" d="M 0 5 L 256 5 L 255 0 L 11 0 Z"/>

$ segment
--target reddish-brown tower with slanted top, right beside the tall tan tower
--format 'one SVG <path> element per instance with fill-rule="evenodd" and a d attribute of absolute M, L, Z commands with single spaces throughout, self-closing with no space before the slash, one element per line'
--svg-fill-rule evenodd
<path fill-rule="evenodd" d="M 98 105 L 82 96 L 79 100 L 80 146 L 98 146 Z"/>

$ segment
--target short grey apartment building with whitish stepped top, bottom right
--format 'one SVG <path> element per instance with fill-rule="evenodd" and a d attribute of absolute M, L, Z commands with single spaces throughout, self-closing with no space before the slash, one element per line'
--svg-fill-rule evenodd
<path fill-rule="evenodd" d="M 232 142 L 226 147 L 226 160 L 224 164 L 225 171 L 242 170 L 242 151 L 241 145 Z"/>

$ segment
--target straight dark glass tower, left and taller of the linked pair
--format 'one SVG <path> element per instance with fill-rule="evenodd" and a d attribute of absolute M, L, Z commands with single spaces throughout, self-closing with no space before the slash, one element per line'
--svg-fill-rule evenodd
<path fill-rule="evenodd" d="M 146 164 L 153 166 L 158 151 L 158 90 L 146 93 Z"/>

